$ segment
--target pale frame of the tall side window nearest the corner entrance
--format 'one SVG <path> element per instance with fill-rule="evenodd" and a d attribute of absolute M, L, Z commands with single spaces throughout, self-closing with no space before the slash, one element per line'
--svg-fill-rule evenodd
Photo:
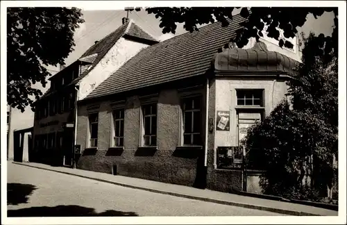
<path fill-rule="evenodd" d="M 200 107 L 194 108 L 194 100 L 198 99 L 200 101 Z M 185 109 L 186 101 L 192 101 L 192 109 Z M 180 97 L 180 146 L 202 146 L 202 127 L 200 126 L 199 132 L 194 132 L 194 113 L 198 112 L 200 115 L 200 124 L 203 122 L 203 112 L 202 112 L 203 96 L 202 94 L 191 94 L 187 96 Z M 185 133 L 185 113 L 192 113 L 192 130 L 191 133 Z M 185 144 L 185 136 L 189 135 L 190 144 Z M 200 135 L 200 142 L 194 143 L 194 135 Z"/>

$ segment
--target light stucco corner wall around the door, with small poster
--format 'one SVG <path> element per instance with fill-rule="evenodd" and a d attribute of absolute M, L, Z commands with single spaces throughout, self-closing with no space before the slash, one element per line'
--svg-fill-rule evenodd
<path fill-rule="evenodd" d="M 210 87 L 209 117 L 214 118 L 214 134 L 209 135 L 207 187 L 212 190 L 230 192 L 231 188 L 242 189 L 242 171 L 217 169 L 217 147 L 238 145 L 236 89 L 264 89 L 265 115 L 285 97 L 287 85 L 283 80 L 271 78 L 217 78 Z M 216 131 L 217 110 L 230 111 L 230 131 Z M 257 178 L 248 178 L 248 185 L 259 190 Z"/>

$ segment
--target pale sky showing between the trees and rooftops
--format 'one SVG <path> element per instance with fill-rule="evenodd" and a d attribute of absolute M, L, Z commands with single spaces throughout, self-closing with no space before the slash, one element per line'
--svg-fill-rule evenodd
<path fill-rule="evenodd" d="M 126 17 L 126 11 L 124 10 L 82 10 L 82 12 L 85 23 L 81 24 L 80 28 L 75 31 L 75 51 L 70 53 L 65 60 L 66 65 L 77 60 L 96 40 L 101 40 L 112 31 L 115 31 L 121 26 L 121 18 Z M 160 18 L 156 19 L 153 14 L 148 14 L 145 10 L 139 12 L 133 10 L 129 12 L 128 17 L 158 40 L 174 37 L 172 33 L 163 34 L 162 28 L 159 27 Z M 298 31 L 303 31 L 306 35 L 310 31 L 316 34 L 331 35 L 332 26 L 334 25 L 333 18 L 333 12 L 325 12 L 317 19 L 314 19 L 312 15 L 308 15 L 307 21 L 302 28 L 298 28 Z M 187 31 L 183 28 L 183 24 L 178 24 L 176 35 L 185 32 Z"/>

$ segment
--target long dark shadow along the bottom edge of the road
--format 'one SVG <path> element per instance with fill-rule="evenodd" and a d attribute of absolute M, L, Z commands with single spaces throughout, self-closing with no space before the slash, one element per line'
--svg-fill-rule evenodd
<path fill-rule="evenodd" d="M 133 212 L 106 210 L 96 213 L 94 208 L 82 206 L 31 207 L 19 210 L 8 210 L 8 217 L 136 217 Z"/>

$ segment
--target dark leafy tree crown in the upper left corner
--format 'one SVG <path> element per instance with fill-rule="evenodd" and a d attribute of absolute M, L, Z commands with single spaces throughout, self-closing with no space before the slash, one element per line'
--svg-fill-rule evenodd
<path fill-rule="evenodd" d="M 74 51 L 74 31 L 81 19 L 77 8 L 8 8 L 7 101 L 24 111 L 42 92 L 31 83 L 46 85 L 44 65 L 64 65 Z"/>

